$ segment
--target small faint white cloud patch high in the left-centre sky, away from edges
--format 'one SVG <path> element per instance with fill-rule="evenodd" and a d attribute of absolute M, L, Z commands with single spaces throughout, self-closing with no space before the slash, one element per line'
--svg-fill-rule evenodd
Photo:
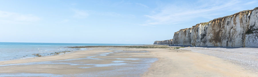
<path fill-rule="evenodd" d="M 73 15 L 74 18 L 87 18 L 87 16 L 89 16 L 89 14 L 84 10 L 73 9 L 73 11 L 75 13 Z"/>

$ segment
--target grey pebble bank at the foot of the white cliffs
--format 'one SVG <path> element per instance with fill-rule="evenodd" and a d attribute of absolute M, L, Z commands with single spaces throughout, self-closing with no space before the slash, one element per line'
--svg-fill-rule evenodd
<path fill-rule="evenodd" d="M 184 48 L 184 50 L 188 50 Z M 190 47 L 190 51 L 210 55 L 258 72 L 258 48 L 250 47 Z"/>

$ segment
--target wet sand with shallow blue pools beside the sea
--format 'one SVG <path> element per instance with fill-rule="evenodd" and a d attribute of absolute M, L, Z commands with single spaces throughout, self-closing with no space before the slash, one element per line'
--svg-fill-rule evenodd
<path fill-rule="evenodd" d="M 0 76 L 137 77 L 157 60 L 148 51 L 91 48 L 63 55 L 2 61 Z"/>

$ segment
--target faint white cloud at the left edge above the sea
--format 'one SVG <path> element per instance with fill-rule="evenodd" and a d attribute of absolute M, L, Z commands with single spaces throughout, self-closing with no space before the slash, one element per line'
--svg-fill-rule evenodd
<path fill-rule="evenodd" d="M 8 23 L 24 23 L 24 22 L 35 22 L 39 21 L 41 18 L 31 15 L 31 14 L 19 14 L 7 11 L 0 11 L 0 22 Z"/>

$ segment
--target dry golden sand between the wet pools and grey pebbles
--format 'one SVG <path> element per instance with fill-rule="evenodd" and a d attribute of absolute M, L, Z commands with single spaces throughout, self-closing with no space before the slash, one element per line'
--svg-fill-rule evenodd
<path fill-rule="evenodd" d="M 146 77 L 257 77 L 220 58 L 186 50 L 148 50 L 158 57 L 143 76 Z"/>

